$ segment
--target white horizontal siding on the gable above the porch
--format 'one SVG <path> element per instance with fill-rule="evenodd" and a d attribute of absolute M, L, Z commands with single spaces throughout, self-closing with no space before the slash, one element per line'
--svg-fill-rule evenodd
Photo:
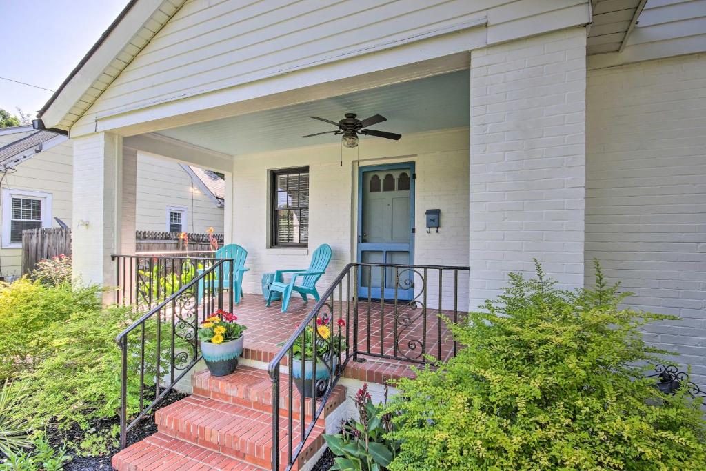
<path fill-rule="evenodd" d="M 503 42 L 587 23 L 588 2 L 193 0 L 157 32 L 79 123 L 389 49 L 483 18 L 487 42 Z M 457 52 L 474 46 L 465 44 Z"/>

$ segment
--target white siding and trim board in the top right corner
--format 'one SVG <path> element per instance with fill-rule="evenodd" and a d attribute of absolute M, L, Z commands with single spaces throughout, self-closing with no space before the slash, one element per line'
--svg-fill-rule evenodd
<path fill-rule="evenodd" d="M 623 52 L 590 56 L 589 68 L 706 51 L 706 0 L 648 0 Z"/>

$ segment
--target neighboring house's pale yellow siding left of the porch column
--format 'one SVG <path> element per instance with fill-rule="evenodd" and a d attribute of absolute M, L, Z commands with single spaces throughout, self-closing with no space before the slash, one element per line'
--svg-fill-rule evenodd
<path fill-rule="evenodd" d="M 0 136 L 0 145 L 16 141 L 24 134 Z M 6 175 L 2 187 L 52 193 L 52 227 L 59 227 L 54 217 L 71 226 L 72 160 L 71 141 L 55 145 L 18 165 L 17 172 Z M 0 207 L 0 211 L 4 209 Z M 20 275 L 22 249 L 0 249 L 0 270 L 3 275 Z"/>

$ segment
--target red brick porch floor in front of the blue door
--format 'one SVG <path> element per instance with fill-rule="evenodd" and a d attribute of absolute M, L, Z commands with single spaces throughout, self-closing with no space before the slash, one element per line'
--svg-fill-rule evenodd
<path fill-rule="evenodd" d="M 263 297 L 259 294 L 246 294 L 239 305 L 234 307 L 239 322 L 248 327 L 245 333 L 245 350 L 243 356 L 261 362 L 270 362 L 281 349 L 278 345 L 294 333 L 306 314 L 313 309 L 316 302 L 311 299 L 304 303 L 301 298 L 294 298 L 289 303 L 286 313 L 280 311 L 280 302 L 265 306 Z M 326 309 L 326 314 L 329 310 Z M 445 322 L 439 322 L 438 313 L 452 319 L 454 311 L 439 311 L 439 309 L 424 309 L 421 306 L 412 308 L 401 302 L 397 305 L 397 350 L 395 354 L 395 306 L 392 303 L 381 304 L 379 301 L 361 299 L 358 304 L 358 350 L 383 354 L 391 357 L 406 357 L 419 359 L 422 347 L 434 357 L 448 359 L 453 354 L 453 340 Z M 426 317 L 426 323 L 425 323 Z M 347 335 L 352 344 L 354 321 L 353 302 L 334 302 L 333 325 L 337 319 L 347 322 Z M 458 319 L 462 313 L 457 313 Z M 426 330 L 426 338 L 424 331 Z M 368 332 L 371 335 L 368 335 Z M 439 342 L 441 339 L 441 342 Z M 349 362 L 344 376 L 361 381 L 384 383 L 388 379 L 414 375 L 413 362 L 399 361 L 380 357 L 363 356 L 363 363 Z M 286 363 L 285 363 L 286 364 Z"/>

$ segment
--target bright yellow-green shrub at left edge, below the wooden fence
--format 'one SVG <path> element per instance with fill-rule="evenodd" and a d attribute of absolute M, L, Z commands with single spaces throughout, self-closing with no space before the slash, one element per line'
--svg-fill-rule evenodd
<path fill-rule="evenodd" d="M 76 312 L 100 309 L 99 287 L 72 290 L 20 278 L 0 283 L 0 379 L 33 369 L 47 357 L 54 323 Z"/>

